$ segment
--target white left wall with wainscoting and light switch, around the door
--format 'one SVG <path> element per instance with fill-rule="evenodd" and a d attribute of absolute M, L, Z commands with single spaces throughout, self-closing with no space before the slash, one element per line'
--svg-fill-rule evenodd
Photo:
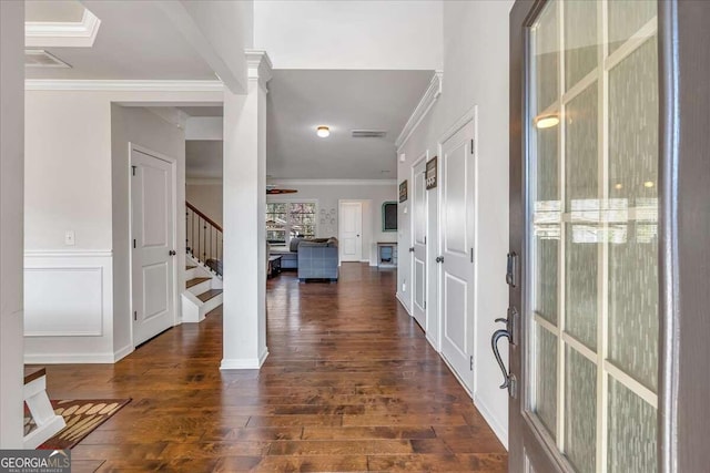
<path fill-rule="evenodd" d="M 132 349 L 128 143 L 182 160 L 184 169 L 184 135 L 151 112 L 115 104 L 221 101 L 222 92 L 26 92 L 26 321 L 42 327 L 26 333 L 26 361 L 113 362 Z M 184 171 L 179 178 L 180 203 Z M 184 212 L 178 216 L 182 259 Z M 67 230 L 74 245 L 64 244 Z M 57 289 L 67 280 L 75 292 Z M 91 304 L 78 307 L 79 298 Z"/>

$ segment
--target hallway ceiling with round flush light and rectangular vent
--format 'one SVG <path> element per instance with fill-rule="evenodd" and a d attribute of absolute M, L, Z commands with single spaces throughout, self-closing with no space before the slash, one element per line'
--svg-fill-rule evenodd
<path fill-rule="evenodd" d="M 266 172 L 274 178 L 393 178 L 395 140 L 433 71 L 275 70 L 268 83 Z M 327 125 L 327 138 L 316 127 Z M 353 130 L 387 132 L 357 138 Z M 385 171 L 383 173 L 383 171 Z"/>

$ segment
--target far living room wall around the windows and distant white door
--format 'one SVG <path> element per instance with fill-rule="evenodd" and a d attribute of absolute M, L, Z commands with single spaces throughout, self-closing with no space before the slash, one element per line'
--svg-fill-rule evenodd
<path fill-rule="evenodd" d="M 396 241 L 397 234 L 382 232 L 382 204 L 397 200 L 397 186 L 390 181 L 273 181 L 282 188 L 295 188 L 296 194 L 271 195 L 267 202 L 283 202 L 297 199 L 317 199 L 318 223 L 316 233 L 318 237 L 337 237 L 339 200 L 369 200 L 363 206 L 363 258 L 369 264 L 377 264 L 377 241 Z M 320 210 L 325 209 L 329 214 L 335 209 L 334 223 L 321 224 Z"/>

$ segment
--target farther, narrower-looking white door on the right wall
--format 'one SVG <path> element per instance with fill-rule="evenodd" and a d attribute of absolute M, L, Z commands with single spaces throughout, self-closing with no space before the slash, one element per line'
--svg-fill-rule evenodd
<path fill-rule="evenodd" d="M 412 169 L 414 200 L 412 205 L 412 315 L 417 323 L 426 326 L 426 237 L 427 237 L 427 196 L 426 160 L 422 160 Z"/>

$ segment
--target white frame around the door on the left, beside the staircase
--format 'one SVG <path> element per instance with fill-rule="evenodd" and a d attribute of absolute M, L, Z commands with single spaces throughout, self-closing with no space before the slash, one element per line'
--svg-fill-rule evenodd
<path fill-rule="evenodd" d="M 171 167 L 171 174 L 172 174 L 172 198 L 173 198 L 173 228 L 172 228 L 172 238 L 173 238 L 173 248 L 178 248 L 178 160 L 166 156 L 162 153 L 158 153 L 155 151 L 149 150 L 144 146 L 141 146 L 139 144 L 135 143 L 131 143 L 129 142 L 129 167 L 126 169 L 128 176 L 129 176 L 129 183 L 131 182 L 131 177 L 132 177 L 132 173 L 133 173 L 133 152 L 138 151 L 139 153 L 143 153 L 146 154 L 149 156 L 152 156 L 156 160 L 161 160 L 164 161 L 166 163 L 170 164 Z M 130 327 L 131 327 L 131 343 L 133 345 L 133 347 L 135 347 L 135 341 L 133 338 L 133 311 L 135 310 L 133 308 L 133 247 L 132 247 L 132 241 L 133 241 L 133 214 L 132 214 L 132 208 L 133 208 L 133 191 L 132 191 L 132 186 L 129 185 L 129 255 L 130 255 L 130 266 L 129 266 L 129 301 L 130 301 L 130 310 L 129 310 L 129 320 L 130 320 Z M 175 258 L 175 264 L 173 265 L 173 274 L 172 274 L 172 280 L 173 280 L 173 320 L 172 320 L 172 326 L 176 326 L 178 325 L 178 311 L 180 310 L 180 297 L 182 294 L 182 290 L 180 287 L 178 287 L 178 271 L 180 270 L 179 265 L 178 265 L 179 258 Z"/>

